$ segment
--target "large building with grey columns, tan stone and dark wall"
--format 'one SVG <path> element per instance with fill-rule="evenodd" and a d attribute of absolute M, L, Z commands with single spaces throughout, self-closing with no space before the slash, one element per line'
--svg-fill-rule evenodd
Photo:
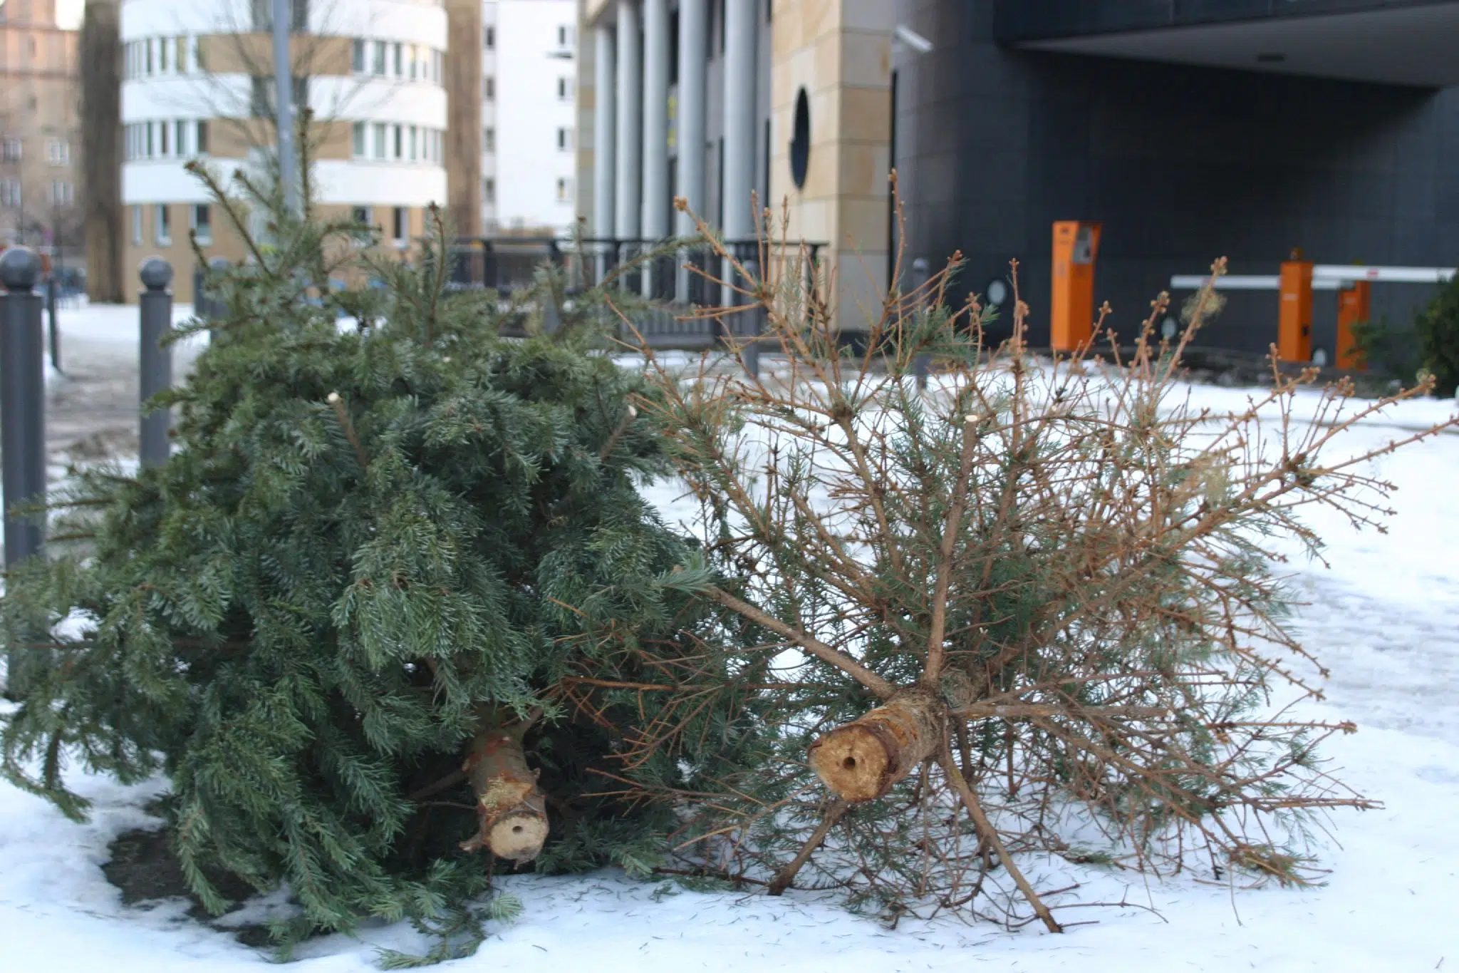
<path fill-rule="evenodd" d="M 1459 3 L 582 0 L 578 216 L 594 236 L 824 242 L 843 331 L 915 257 L 1008 292 L 1049 340 L 1052 223 L 1103 225 L 1096 306 L 1132 337 L 1173 274 L 1459 260 Z M 889 175 L 897 171 L 902 210 Z M 996 286 L 994 283 L 998 282 Z M 1424 289 L 1379 284 L 1374 315 Z M 1313 343 L 1334 347 L 1335 292 Z M 1007 336 L 1005 298 L 995 337 Z M 1274 292 L 1199 341 L 1263 352 Z"/>

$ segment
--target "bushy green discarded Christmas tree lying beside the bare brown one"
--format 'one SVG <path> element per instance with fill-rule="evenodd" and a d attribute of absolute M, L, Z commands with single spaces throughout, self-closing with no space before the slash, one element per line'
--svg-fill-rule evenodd
<path fill-rule="evenodd" d="M 77 476 L 53 560 L 4 598 L 26 659 L 6 776 L 80 817 L 67 760 L 162 770 L 191 890 L 217 912 L 209 875 L 287 883 L 286 944 L 379 916 L 445 934 L 429 958 L 474 948 L 492 852 L 646 871 L 671 811 L 594 794 L 747 740 L 743 694 L 674 712 L 633 689 L 721 637 L 638 493 L 665 461 L 642 379 L 594 354 L 598 298 L 502 340 L 495 293 L 446 292 L 432 229 L 416 267 L 356 252 L 359 226 L 283 219 L 251 244 L 168 395 L 172 458 Z M 360 261 L 384 287 L 312 286 Z M 624 769 L 623 735 L 667 724 Z"/>

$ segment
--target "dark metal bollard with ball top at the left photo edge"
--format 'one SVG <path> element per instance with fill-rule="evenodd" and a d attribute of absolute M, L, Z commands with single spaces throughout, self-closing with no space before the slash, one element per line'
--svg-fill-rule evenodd
<path fill-rule="evenodd" d="M 25 247 L 0 254 L 0 454 L 4 465 L 4 565 L 39 553 L 44 528 L 16 505 L 45 496 L 45 330 L 41 325 L 41 258 Z"/>

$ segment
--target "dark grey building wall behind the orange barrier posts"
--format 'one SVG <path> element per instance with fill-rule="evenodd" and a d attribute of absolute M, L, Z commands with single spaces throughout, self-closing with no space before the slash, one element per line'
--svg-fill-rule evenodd
<path fill-rule="evenodd" d="M 932 38 L 897 54 L 907 255 L 960 249 L 983 290 L 1020 261 L 1032 340 L 1048 340 L 1050 223 L 1103 223 L 1096 302 L 1138 330 L 1173 273 L 1230 258 L 1277 273 L 1317 263 L 1459 263 L 1459 90 L 1024 53 L 994 41 L 991 0 L 899 0 Z M 1179 302 L 1180 295 L 1177 295 Z M 1374 287 L 1374 315 L 1425 298 Z M 1332 349 L 1335 298 L 1315 343 Z M 1234 293 L 1202 341 L 1265 350 L 1275 293 Z"/>

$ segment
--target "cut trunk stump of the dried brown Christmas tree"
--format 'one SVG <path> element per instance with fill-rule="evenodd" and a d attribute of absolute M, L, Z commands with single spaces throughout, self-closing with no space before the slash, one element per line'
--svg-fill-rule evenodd
<path fill-rule="evenodd" d="M 856 804 L 884 796 L 938 753 L 947 706 L 926 689 L 909 689 L 810 745 L 811 769 L 836 796 Z"/>

